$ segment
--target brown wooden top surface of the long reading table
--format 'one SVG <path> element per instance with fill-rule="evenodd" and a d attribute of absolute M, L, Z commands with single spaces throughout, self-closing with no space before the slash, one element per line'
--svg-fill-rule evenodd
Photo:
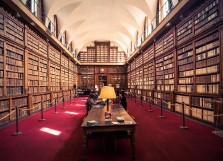
<path fill-rule="evenodd" d="M 109 126 L 135 126 L 137 123 L 132 117 L 119 105 L 110 105 L 109 111 L 111 112 L 111 121 L 105 121 L 106 106 L 95 105 L 88 112 L 87 117 L 84 119 L 81 127 L 109 127 Z M 117 117 L 124 118 L 124 122 L 117 120 Z M 89 125 L 89 122 L 95 122 L 95 124 Z"/>

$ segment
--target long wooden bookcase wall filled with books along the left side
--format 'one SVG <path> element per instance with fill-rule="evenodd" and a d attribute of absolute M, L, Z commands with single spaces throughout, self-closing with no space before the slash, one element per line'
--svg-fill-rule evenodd
<path fill-rule="evenodd" d="M 24 118 L 72 94 L 77 65 L 70 59 L 0 8 L 0 126 L 15 121 L 16 107 Z"/>

